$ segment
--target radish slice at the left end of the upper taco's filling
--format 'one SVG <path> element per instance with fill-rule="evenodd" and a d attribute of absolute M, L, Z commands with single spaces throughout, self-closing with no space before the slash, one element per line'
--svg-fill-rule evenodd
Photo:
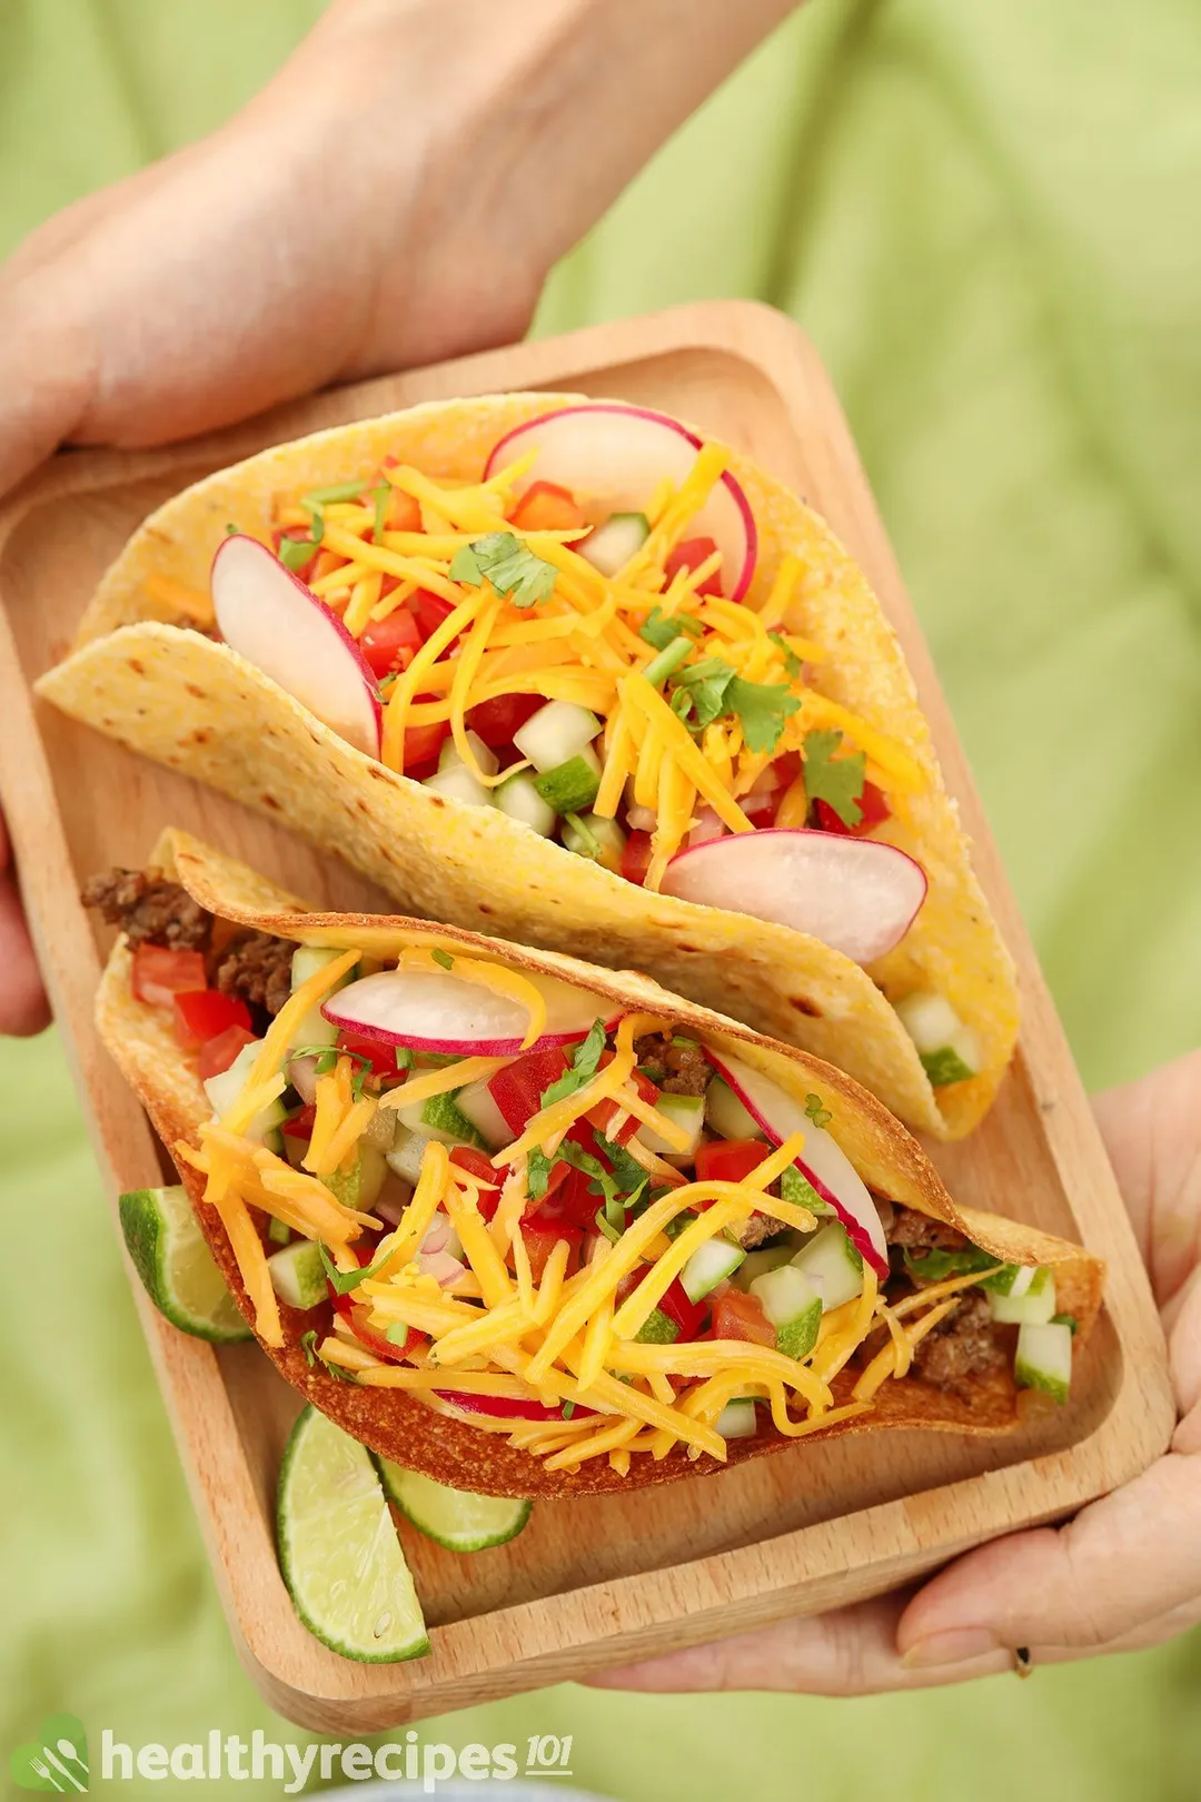
<path fill-rule="evenodd" d="M 367 661 L 337 613 L 257 539 L 238 532 L 212 559 L 221 638 L 331 732 L 380 755 L 384 708 Z"/>

